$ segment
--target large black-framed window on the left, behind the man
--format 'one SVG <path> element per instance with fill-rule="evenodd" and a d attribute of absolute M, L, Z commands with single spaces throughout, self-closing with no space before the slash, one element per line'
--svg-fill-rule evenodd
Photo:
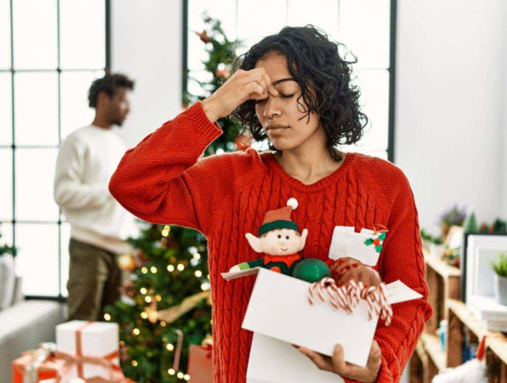
<path fill-rule="evenodd" d="M 53 200 L 58 145 L 89 124 L 108 67 L 106 0 L 0 0 L 0 230 L 27 296 L 67 295 L 69 224 Z"/>

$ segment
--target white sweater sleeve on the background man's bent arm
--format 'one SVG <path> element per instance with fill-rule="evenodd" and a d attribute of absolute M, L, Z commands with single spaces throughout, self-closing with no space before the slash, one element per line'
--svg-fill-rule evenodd
<path fill-rule="evenodd" d="M 107 183 L 86 184 L 84 145 L 73 136 L 64 140 L 58 150 L 53 197 L 62 210 L 100 208 L 112 199 Z"/>

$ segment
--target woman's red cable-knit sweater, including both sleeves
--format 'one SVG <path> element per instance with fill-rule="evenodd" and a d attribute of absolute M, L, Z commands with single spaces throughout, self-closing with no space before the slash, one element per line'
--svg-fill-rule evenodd
<path fill-rule="evenodd" d="M 393 305 L 391 325 L 379 324 L 375 333 L 382 350 L 378 382 L 398 381 L 432 313 L 417 209 L 403 172 L 387 161 L 349 153 L 334 173 L 305 185 L 285 173 L 271 152 L 248 149 L 200 158 L 221 134 L 198 102 L 129 149 L 109 185 L 139 218 L 192 227 L 207 237 L 215 382 L 245 381 L 252 333 L 241 329 L 241 322 L 255 281 L 227 282 L 220 273 L 259 258 L 244 234 L 257 233 L 264 213 L 291 197 L 299 202 L 292 220 L 309 231 L 301 251 L 307 258 L 327 259 L 336 225 L 389 228 L 378 263 L 382 279 L 400 279 L 424 295 Z"/>

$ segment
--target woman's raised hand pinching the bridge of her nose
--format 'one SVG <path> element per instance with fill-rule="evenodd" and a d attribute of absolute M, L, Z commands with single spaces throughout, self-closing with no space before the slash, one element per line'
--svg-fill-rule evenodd
<path fill-rule="evenodd" d="M 211 122 L 229 116 L 247 100 L 259 100 L 268 95 L 278 96 L 264 68 L 239 69 L 211 96 L 202 100 L 202 107 Z"/>

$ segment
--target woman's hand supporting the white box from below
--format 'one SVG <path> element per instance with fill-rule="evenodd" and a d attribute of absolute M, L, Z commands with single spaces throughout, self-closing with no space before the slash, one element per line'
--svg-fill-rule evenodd
<path fill-rule="evenodd" d="M 382 352 L 380 351 L 379 344 L 376 340 L 373 340 L 370 355 L 368 356 L 368 362 L 365 367 L 345 362 L 343 359 L 343 347 L 341 344 L 337 344 L 335 346 L 333 357 L 316 353 L 315 351 L 309 350 L 305 347 L 299 347 L 299 351 L 310 358 L 321 370 L 331 371 L 340 376 L 364 383 L 377 381 L 377 375 L 382 363 Z"/>

